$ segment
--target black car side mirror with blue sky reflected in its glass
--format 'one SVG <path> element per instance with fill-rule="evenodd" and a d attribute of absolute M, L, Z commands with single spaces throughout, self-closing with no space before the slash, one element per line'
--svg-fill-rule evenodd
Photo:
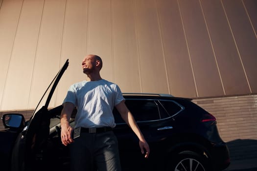
<path fill-rule="evenodd" d="M 18 113 L 4 114 L 2 122 L 4 128 L 23 128 L 25 125 L 24 116 Z"/>

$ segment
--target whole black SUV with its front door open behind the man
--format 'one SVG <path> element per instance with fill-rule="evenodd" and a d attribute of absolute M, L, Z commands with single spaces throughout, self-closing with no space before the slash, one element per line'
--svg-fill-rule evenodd
<path fill-rule="evenodd" d="M 48 108 L 68 65 L 67 60 L 28 121 L 24 122 L 21 114 L 3 115 L 6 129 L 0 130 L 1 171 L 70 170 L 69 146 L 62 145 L 60 139 L 63 107 Z M 191 99 L 166 94 L 123 96 L 151 151 L 145 159 L 137 136 L 114 109 L 123 171 L 222 171 L 229 166 L 229 150 L 219 136 L 215 117 Z M 75 114 L 76 109 L 72 126 Z"/>

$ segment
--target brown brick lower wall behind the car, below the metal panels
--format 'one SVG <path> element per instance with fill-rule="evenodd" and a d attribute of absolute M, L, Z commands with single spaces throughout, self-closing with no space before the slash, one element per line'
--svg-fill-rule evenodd
<path fill-rule="evenodd" d="M 194 99 L 193 102 L 214 115 L 221 138 L 228 143 L 231 159 L 257 158 L 257 95 Z M 21 113 L 27 119 L 33 110 Z M 0 122 L 0 128 L 3 128 Z"/>

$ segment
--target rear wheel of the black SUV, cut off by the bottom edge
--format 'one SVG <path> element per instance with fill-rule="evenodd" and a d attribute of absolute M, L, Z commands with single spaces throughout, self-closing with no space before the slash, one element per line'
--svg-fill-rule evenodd
<path fill-rule="evenodd" d="M 192 151 L 183 151 L 168 161 L 166 171 L 210 171 L 206 157 Z"/>

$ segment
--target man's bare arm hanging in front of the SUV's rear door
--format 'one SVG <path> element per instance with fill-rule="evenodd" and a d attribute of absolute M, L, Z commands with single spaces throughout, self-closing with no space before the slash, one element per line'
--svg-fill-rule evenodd
<path fill-rule="evenodd" d="M 140 146 L 140 149 L 141 149 L 141 153 L 143 154 L 144 153 L 144 149 L 145 149 L 146 153 L 145 153 L 144 157 L 148 158 L 149 153 L 150 153 L 149 145 L 146 142 L 146 140 L 144 139 L 144 136 L 143 136 L 142 132 L 140 131 L 140 128 L 138 127 L 138 124 L 136 123 L 132 113 L 126 107 L 125 102 L 122 101 L 118 105 L 116 105 L 115 107 L 117 108 L 118 112 L 120 113 L 122 119 L 128 124 L 128 126 L 138 136 L 138 138 L 139 138 L 139 146 Z"/>

